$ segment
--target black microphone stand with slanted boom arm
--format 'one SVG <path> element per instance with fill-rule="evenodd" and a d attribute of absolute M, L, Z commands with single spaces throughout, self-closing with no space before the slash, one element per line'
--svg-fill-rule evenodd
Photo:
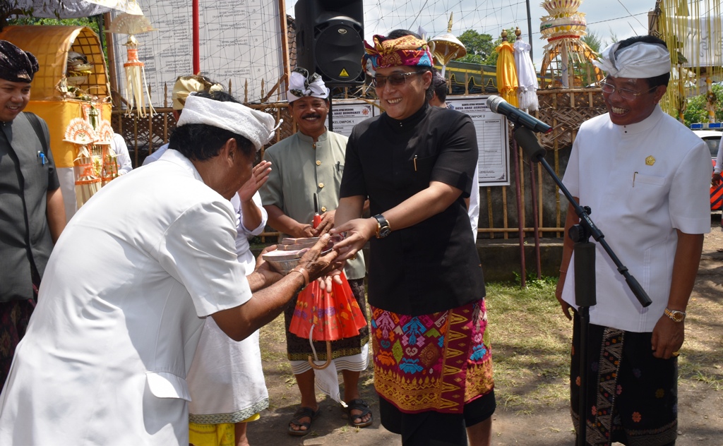
<path fill-rule="evenodd" d="M 562 184 L 560 177 L 549 166 L 544 159 L 546 151 L 540 147 L 534 133 L 524 126 L 515 124 L 515 141 L 521 145 L 530 159 L 542 165 L 555 181 L 565 197 L 573 205 L 575 213 L 580 218 L 580 223 L 570 228 L 568 236 L 575 242 L 573 252 L 575 253 L 575 304 L 578 306 L 578 319 L 580 322 L 580 400 L 578 401 L 578 437 L 576 444 L 585 446 L 587 439 L 587 383 L 588 383 L 588 337 L 590 330 L 590 307 L 597 304 L 595 288 L 595 244 L 590 242 L 590 237 L 595 239 L 603 247 L 610 260 L 615 263 L 617 270 L 625 277 L 625 282 L 633 291 L 640 304 L 645 307 L 653 303 L 638 280 L 630 275 L 628 268 L 617 258 L 615 252 L 607 244 L 602 231 L 600 231 L 590 218 L 590 207 L 582 207 L 568 188 Z"/>

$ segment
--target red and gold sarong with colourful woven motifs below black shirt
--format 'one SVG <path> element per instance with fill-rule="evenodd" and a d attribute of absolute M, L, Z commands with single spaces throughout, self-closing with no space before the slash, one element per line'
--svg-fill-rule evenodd
<path fill-rule="evenodd" d="M 492 392 L 484 299 L 408 316 L 372 306 L 374 384 L 399 411 L 461 414 Z"/>

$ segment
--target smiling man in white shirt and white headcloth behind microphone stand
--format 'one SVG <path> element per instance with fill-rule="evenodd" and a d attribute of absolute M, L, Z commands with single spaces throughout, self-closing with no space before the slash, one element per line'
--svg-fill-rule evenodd
<path fill-rule="evenodd" d="M 665 43 L 652 36 L 606 48 L 607 114 L 586 121 L 563 182 L 592 216 L 615 254 L 653 303 L 643 308 L 596 246 L 597 304 L 590 309 L 589 380 L 580 388 L 580 327 L 573 327 L 570 400 L 586 392 L 586 441 L 594 445 L 675 445 L 677 356 L 685 311 L 710 231 L 710 155 L 693 132 L 658 105 L 670 78 Z M 578 223 L 568 207 L 565 233 Z M 565 238 L 557 299 L 568 319 L 575 303 L 573 241 Z M 683 353 L 680 351 L 680 353 Z"/>

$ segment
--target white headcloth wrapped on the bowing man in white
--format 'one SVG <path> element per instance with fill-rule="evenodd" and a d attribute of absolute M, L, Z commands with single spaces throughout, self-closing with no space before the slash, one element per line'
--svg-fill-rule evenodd
<path fill-rule="evenodd" d="M 269 113 L 254 110 L 235 102 L 222 102 L 200 98 L 191 94 L 176 126 L 185 124 L 207 124 L 246 137 L 256 150 L 273 138 L 273 132 L 281 125 L 275 124 Z"/>

